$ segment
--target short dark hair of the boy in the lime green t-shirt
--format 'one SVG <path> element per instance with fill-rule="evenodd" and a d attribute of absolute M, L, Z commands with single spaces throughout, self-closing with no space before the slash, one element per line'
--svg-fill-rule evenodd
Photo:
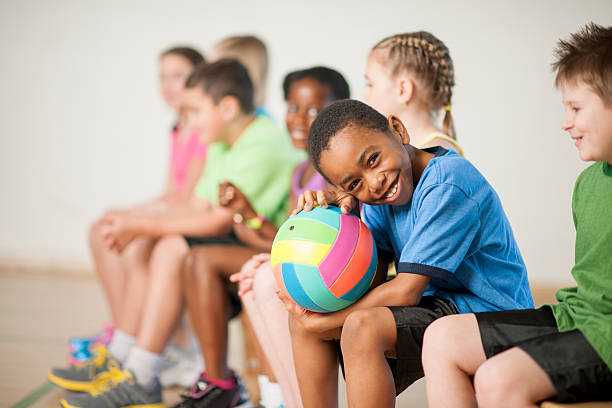
<path fill-rule="evenodd" d="M 185 83 L 187 88 L 196 86 L 202 86 L 204 93 L 216 104 L 226 96 L 233 96 L 238 99 L 244 113 L 253 112 L 253 83 L 247 69 L 238 60 L 223 58 L 199 64 Z"/>

